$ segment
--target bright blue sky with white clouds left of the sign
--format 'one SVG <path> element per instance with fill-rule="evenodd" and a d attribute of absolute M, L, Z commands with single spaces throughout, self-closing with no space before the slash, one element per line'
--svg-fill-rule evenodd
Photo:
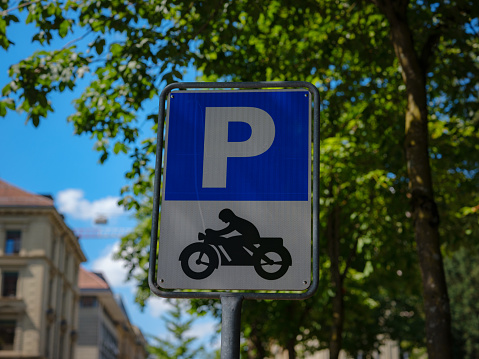
<path fill-rule="evenodd" d="M 8 53 L 0 50 L 0 86 L 7 83 L 11 64 L 30 55 L 34 45 L 25 45 L 31 38 L 31 28 L 16 25 L 11 29 L 17 44 Z M 10 36 L 10 35 L 9 35 Z M 190 71 L 191 72 L 191 71 Z M 194 74 L 190 73 L 190 79 Z M 100 164 L 99 153 L 93 149 L 94 140 L 86 135 L 74 135 L 73 125 L 66 121 L 73 111 L 72 100 L 76 92 L 55 95 L 55 112 L 35 128 L 25 123 L 26 115 L 9 112 L 0 118 L 0 178 L 26 191 L 53 196 L 57 210 L 65 215 L 67 225 L 73 229 L 91 229 L 98 215 L 108 218 L 101 228 L 133 228 L 133 213 L 118 206 L 120 189 L 128 184 L 125 173 L 131 168 L 127 155 L 112 155 Z M 160 319 L 169 305 L 166 299 L 151 298 L 144 310 L 134 303 L 135 283 L 125 282 L 126 270 L 121 261 L 113 260 L 119 238 L 80 239 L 87 262 L 82 265 L 102 272 L 114 293 L 121 294 L 130 321 L 144 334 L 165 336 L 164 321 Z M 211 318 L 198 319 L 191 335 L 201 336 L 210 345 L 209 333 L 214 333 Z M 208 335 L 205 335 L 208 333 Z M 211 344 L 213 347 L 217 343 Z"/>

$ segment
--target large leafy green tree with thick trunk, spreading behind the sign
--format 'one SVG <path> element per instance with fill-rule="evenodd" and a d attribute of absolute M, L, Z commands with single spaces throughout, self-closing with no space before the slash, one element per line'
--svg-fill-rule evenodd
<path fill-rule="evenodd" d="M 151 190 L 149 161 L 155 147 L 151 138 L 139 143 L 139 118 L 150 121 L 155 131 L 156 111 L 145 111 L 145 106 L 157 96 L 162 81 L 181 79 L 182 69 L 192 64 L 207 80 L 300 79 L 316 84 L 322 94 L 321 141 L 326 147 L 321 161 L 341 154 L 348 164 L 330 161 L 325 167 L 328 177 L 322 178 L 321 225 L 331 239 L 325 269 L 331 269 L 334 281 L 328 289 L 335 294 L 332 300 L 318 296 L 316 303 L 332 305 L 337 299 L 341 313 L 341 307 L 347 309 L 341 301 L 353 303 L 353 294 L 358 294 L 342 297 L 345 280 L 371 296 L 375 293 L 368 286 L 380 273 L 388 274 L 383 281 L 396 281 L 384 270 L 387 263 L 371 258 L 389 253 L 391 259 L 388 239 L 404 239 L 410 230 L 423 278 L 428 352 L 431 358 L 450 357 L 439 234 L 448 246 L 456 245 L 459 236 L 452 234 L 460 230 L 467 238 L 477 226 L 466 215 L 476 205 L 470 188 L 478 184 L 474 130 L 479 9 L 474 1 L 25 1 L 10 8 L 3 1 L 0 7 L 0 43 L 5 49 L 10 46 L 8 25 L 21 11 L 38 27 L 33 40 L 39 44 L 65 37 L 59 49 L 37 52 L 10 68 L 12 81 L 3 88 L 0 115 L 24 110 L 38 125 L 53 110 L 52 93 L 74 88 L 79 78 L 88 76 L 90 85 L 76 101 L 77 112 L 70 120 L 78 133 L 97 138 L 101 160 L 112 151 L 132 156 L 127 174 L 132 185 L 125 189 L 123 202 L 137 210 Z M 70 40 L 72 35 L 76 39 Z M 460 146 L 453 145 L 454 138 L 461 139 Z M 395 193 L 387 194 L 389 186 Z M 378 191 L 381 188 L 384 191 Z M 409 210 L 406 200 L 411 201 Z M 388 206 L 386 213 L 381 205 Z M 370 209 L 371 218 L 358 216 Z M 334 224 L 334 218 L 340 222 Z M 144 255 L 141 243 L 133 251 Z M 410 246 L 399 248 L 411 258 Z M 361 279 L 358 273 L 363 273 Z M 394 298 L 389 294 L 394 291 L 386 284 L 377 303 L 391 307 Z M 288 310 L 287 303 L 280 306 Z M 295 309 L 299 317 L 303 309 Z M 344 321 L 348 338 L 352 328 L 347 320 L 345 312 L 338 323 L 327 321 L 339 329 Z M 384 326 L 376 323 L 374 328 Z M 324 339 L 325 332 L 316 331 L 320 343 L 349 345 L 335 342 L 333 332 Z M 311 337 L 308 333 L 302 330 L 303 337 Z M 294 330 L 286 334 L 298 337 Z"/>

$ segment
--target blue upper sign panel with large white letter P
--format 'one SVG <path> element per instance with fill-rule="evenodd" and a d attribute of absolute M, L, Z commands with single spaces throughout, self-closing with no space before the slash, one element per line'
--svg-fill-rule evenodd
<path fill-rule="evenodd" d="M 310 111 L 305 90 L 175 92 L 164 199 L 308 201 Z"/>

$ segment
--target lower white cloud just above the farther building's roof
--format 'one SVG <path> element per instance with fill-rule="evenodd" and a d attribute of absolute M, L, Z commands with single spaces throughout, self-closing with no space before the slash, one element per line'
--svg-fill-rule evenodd
<path fill-rule="evenodd" d="M 135 290 L 134 281 L 126 281 L 128 270 L 125 267 L 125 260 L 113 258 L 113 253 L 118 251 L 119 246 L 119 243 L 115 243 L 107 247 L 102 256 L 93 261 L 91 268 L 94 272 L 102 273 L 110 287 L 130 287 Z"/>

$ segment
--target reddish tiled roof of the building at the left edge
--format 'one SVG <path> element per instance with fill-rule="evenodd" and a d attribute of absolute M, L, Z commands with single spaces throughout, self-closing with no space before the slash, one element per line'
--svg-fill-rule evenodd
<path fill-rule="evenodd" d="M 53 200 L 24 191 L 0 179 L 0 206 L 53 207 Z"/>

